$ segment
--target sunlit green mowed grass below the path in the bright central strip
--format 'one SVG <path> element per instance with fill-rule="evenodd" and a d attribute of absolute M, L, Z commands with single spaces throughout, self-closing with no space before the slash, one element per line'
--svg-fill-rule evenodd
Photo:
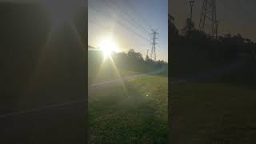
<path fill-rule="evenodd" d="M 167 143 L 164 74 L 90 90 L 90 143 Z"/>

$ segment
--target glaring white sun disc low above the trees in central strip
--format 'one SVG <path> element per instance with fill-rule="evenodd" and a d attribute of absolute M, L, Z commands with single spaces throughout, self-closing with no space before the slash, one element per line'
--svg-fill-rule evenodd
<path fill-rule="evenodd" d="M 102 50 L 105 57 L 110 57 L 112 52 L 120 52 L 118 44 L 114 41 L 114 38 L 102 38 L 98 47 Z"/>

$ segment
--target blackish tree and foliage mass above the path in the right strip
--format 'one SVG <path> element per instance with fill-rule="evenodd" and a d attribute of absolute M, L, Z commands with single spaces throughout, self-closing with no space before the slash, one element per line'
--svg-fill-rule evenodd
<path fill-rule="evenodd" d="M 195 29 L 194 22 L 190 22 L 189 18 L 186 26 L 179 31 L 174 24 L 174 17 L 169 15 L 169 34 L 172 74 L 192 74 L 234 62 L 238 58 L 255 57 L 256 43 L 249 38 L 242 38 L 241 34 L 212 38 Z"/>

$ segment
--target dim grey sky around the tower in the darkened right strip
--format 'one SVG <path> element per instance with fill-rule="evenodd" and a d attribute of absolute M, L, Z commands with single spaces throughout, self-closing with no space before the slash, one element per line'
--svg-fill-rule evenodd
<path fill-rule="evenodd" d="M 203 0 L 195 0 L 193 22 L 196 28 L 202 10 Z M 217 2 L 217 17 L 219 21 L 218 33 L 242 34 L 243 38 L 250 38 L 256 42 L 256 1 L 255 0 L 225 0 Z M 169 12 L 175 18 L 175 25 L 181 30 L 185 26 L 186 18 L 190 15 L 189 0 L 171 0 Z"/>

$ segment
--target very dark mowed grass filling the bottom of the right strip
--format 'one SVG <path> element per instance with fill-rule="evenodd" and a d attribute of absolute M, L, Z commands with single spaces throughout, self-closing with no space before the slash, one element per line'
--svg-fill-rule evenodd
<path fill-rule="evenodd" d="M 222 83 L 170 86 L 173 143 L 256 143 L 256 90 Z"/>

